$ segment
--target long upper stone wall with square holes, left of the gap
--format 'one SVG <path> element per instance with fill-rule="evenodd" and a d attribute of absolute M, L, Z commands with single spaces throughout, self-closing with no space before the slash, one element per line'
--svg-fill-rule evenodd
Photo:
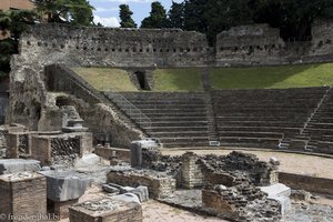
<path fill-rule="evenodd" d="M 67 53 L 81 65 L 198 67 L 205 64 L 208 43 L 204 34 L 180 29 L 37 24 L 23 36 L 21 49 Z"/>

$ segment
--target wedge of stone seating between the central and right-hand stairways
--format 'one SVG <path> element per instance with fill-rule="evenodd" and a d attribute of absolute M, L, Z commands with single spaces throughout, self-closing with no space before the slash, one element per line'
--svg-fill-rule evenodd
<path fill-rule="evenodd" d="M 213 107 L 221 145 L 273 149 L 286 149 L 290 144 L 302 147 L 299 141 L 302 131 L 326 90 L 214 91 Z"/>

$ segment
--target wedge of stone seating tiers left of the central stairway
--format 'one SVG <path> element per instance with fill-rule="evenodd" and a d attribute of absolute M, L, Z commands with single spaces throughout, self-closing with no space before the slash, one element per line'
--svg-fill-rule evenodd
<path fill-rule="evenodd" d="M 164 147 L 209 144 L 204 93 L 122 94 L 151 120 L 151 125 L 143 127 L 143 130 L 150 137 L 158 138 Z"/>

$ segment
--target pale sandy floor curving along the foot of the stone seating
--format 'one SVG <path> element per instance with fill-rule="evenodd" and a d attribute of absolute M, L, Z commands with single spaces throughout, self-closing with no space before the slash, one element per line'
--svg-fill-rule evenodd
<path fill-rule="evenodd" d="M 232 150 L 191 150 L 199 155 L 218 154 L 225 155 L 232 152 Z M 270 151 L 246 151 L 239 150 L 241 152 L 248 152 L 255 154 L 260 160 L 269 161 L 271 157 L 279 159 L 281 165 L 279 171 L 311 175 L 316 178 L 333 179 L 333 159 L 322 158 L 315 155 L 304 155 L 297 153 L 284 153 L 284 152 L 270 152 Z M 183 150 L 164 150 L 162 154 L 165 155 L 181 155 L 186 151 Z"/>

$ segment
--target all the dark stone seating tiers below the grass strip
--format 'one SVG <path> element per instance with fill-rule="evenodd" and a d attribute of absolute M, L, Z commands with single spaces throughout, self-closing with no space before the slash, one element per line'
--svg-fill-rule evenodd
<path fill-rule="evenodd" d="M 151 120 L 143 130 L 165 148 L 209 145 L 213 119 L 221 147 L 333 154 L 330 88 L 220 90 L 213 91 L 211 98 L 208 93 L 122 94 Z M 132 119 L 139 121 L 139 117 Z"/>

